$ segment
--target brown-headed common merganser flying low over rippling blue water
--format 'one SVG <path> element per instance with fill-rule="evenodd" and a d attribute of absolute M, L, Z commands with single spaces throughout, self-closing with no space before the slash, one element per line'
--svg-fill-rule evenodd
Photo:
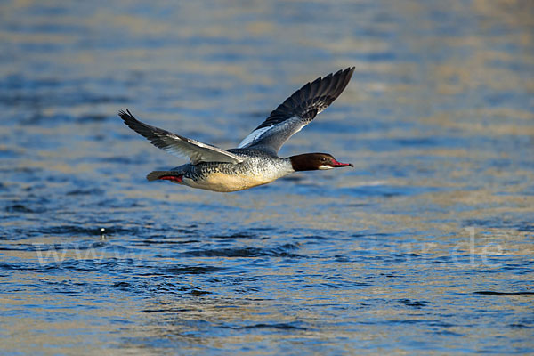
<path fill-rule="evenodd" d="M 218 147 L 173 134 L 137 120 L 128 109 L 118 115 L 136 133 L 159 149 L 189 157 L 190 163 L 168 171 L 153 171 L 149 181 L 164 180 L 191 188 L 213 191 L 246 190 L 273 182 L 296 171 L 313 171 L 352 166 L 341 163 L 328 153 L 304 153 L 280 158 L 280 147 L 293 134 L 312 122 L 321 111 L 344 91 L 354 67 L 319 77 L 286 99 L 255 130 L 239 143 L 237 149 Z"/>

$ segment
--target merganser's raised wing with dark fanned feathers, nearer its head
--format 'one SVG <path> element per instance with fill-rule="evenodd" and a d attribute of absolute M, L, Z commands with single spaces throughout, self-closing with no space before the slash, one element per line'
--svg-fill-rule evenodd
<path fill-rule="evenodd" d="M 239 148 L 257 148 L 276 154 L 293 134 L 312 122 L 344 91 L 354 67 L 319 77 L 304 85 L 279 105 L 271 115 L 239 143 Z"/>

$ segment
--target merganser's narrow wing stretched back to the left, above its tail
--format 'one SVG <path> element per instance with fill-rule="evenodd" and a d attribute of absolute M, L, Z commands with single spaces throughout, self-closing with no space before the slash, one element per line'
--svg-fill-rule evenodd
<path fill-rule="evenodd" d="M 175 156 L 188 157 L 193 165 L 200 162 L 243 162 L 243 159 L 227 150 L 144 124 L 137 120 L 128 109 L 126 109 L 126 112 L 120 110 L 118 116 L 137 134 L 149 139 L 154 146 Z"/>

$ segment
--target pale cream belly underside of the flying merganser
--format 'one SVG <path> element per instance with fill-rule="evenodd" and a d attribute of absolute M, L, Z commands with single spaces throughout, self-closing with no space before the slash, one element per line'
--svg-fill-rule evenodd
<path fill-rule="evenodd" d="M 201 179 L 193 180 L 183 177 L 183 184 L 191 188 L 213 191 L 237 191 L 246 190 L 258 185 L 275 181 L 278 176 L 268 176 L 264 174 L 225 174 L 214 172 L 206 174 Z"/>

